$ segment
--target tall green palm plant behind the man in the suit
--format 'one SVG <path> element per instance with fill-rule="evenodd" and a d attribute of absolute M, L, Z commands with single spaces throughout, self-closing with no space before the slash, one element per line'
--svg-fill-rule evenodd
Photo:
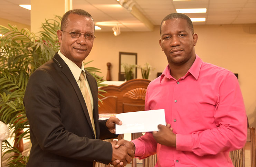
<path fill-rule="evenodd" d="M 43 31 L 40 31 L 39 35 L 28 29 L 19 31 L 16 26 L 0 25 L 0 34 L 3 34 L 0 37 L 0 121 L 6 123 L 11 134 L 19 140 L 29 138 L 29 123 L 23 105 L 28 79 L 40 65 L 58 52 L 60 43 L 56 32 L 60 29 L 60 21 L 60 16 L 45 20 L 45 23 L 42 23 Z M 105 86 L 102 84 L 103 77 L 95 74 L 100 73 L 99 69 L 85 69 L 93 74 L 98 86 Z M 22 132 L 23 129 L 27 130 Z M 3 148 L 6 153 L 16 153 L 16 158 L 9 158 L 8 166 L 26 166 L 28 157 L 23 156 L 7 141 L 4 141 Z"/>

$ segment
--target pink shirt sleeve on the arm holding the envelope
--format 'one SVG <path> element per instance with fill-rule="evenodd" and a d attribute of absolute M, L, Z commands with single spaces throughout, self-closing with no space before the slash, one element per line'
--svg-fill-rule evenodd
<path fill-rule="evenodd" d="M 189 151 L 199 156 L 215 155 L 245 145 L 247 118 L 238 80 L 231 72 L 221 75 L 219 80 L 219 98 L 214 111 L 217 127 L 192 134 L 177 134 L 178 151 Z"/>

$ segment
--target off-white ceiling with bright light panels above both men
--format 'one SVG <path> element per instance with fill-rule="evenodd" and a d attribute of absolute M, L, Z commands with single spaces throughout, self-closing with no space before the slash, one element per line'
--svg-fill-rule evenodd
<path fill-rule="evenodd" d="M 206 22 L 193 24 L 250 24 L 256 23 L 256 0 L 133 0 L 134 7 L 153 25 L 176 8 L 207 8 L 207 13 L 187 13 L 191 18 L 205 17 Z M 19 7 L 30 0 L 0 0 L 0 18 L 30 25 L 30 11 Z M 89 12 L 101 31 L 112 31 L 118 24 L 121 31 L 150 31 L 143 21 L 121 7 L 116 0 L 73 0 L 73 9 Z M 53 13 L 54 15 L 54 13 Z M 0 23 L 1 24 L 1 23 Z"/>

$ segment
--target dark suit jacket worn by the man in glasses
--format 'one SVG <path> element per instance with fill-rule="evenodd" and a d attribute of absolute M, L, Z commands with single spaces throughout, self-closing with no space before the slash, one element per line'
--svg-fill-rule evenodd
<path fill-rule="evenodd" d="M 111 138 L 98 120 L 97 82 L 86 71 L 90 85 L 96 128 L 91 120 L 77 82 L 61 57 L 40 66 L 29 78 L 24 105 L 30 124 L 32 148 L 27 167 L 91 167 L 93 161 L 108 164 L 112 158 Z"/>

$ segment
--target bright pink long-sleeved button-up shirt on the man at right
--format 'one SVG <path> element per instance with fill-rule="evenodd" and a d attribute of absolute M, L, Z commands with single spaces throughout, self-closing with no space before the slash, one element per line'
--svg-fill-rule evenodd
<path fill-rule="evenodd" d="M 235 75 L 196 60 L 174 79 L 167 66 L 148 86 L 145 110 L 165 110 L 176 148 L 158 144 L 152 133 L 133 140 L 140 159 L 157 153 L 155 167 L 233 167 L 229 151 L 245 145 L 247 118 Z"/>

